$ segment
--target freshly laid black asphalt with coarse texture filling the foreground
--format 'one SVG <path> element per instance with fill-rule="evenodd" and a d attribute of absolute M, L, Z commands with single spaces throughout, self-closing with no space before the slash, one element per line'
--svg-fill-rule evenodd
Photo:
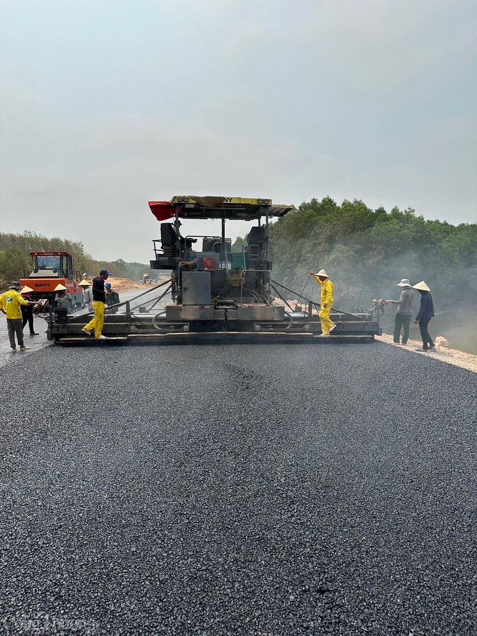
<path fill-rule="evenodd" d="M 382 343 L 0 369 L 0 633 L 477 633 L 477 375 Z"/>

